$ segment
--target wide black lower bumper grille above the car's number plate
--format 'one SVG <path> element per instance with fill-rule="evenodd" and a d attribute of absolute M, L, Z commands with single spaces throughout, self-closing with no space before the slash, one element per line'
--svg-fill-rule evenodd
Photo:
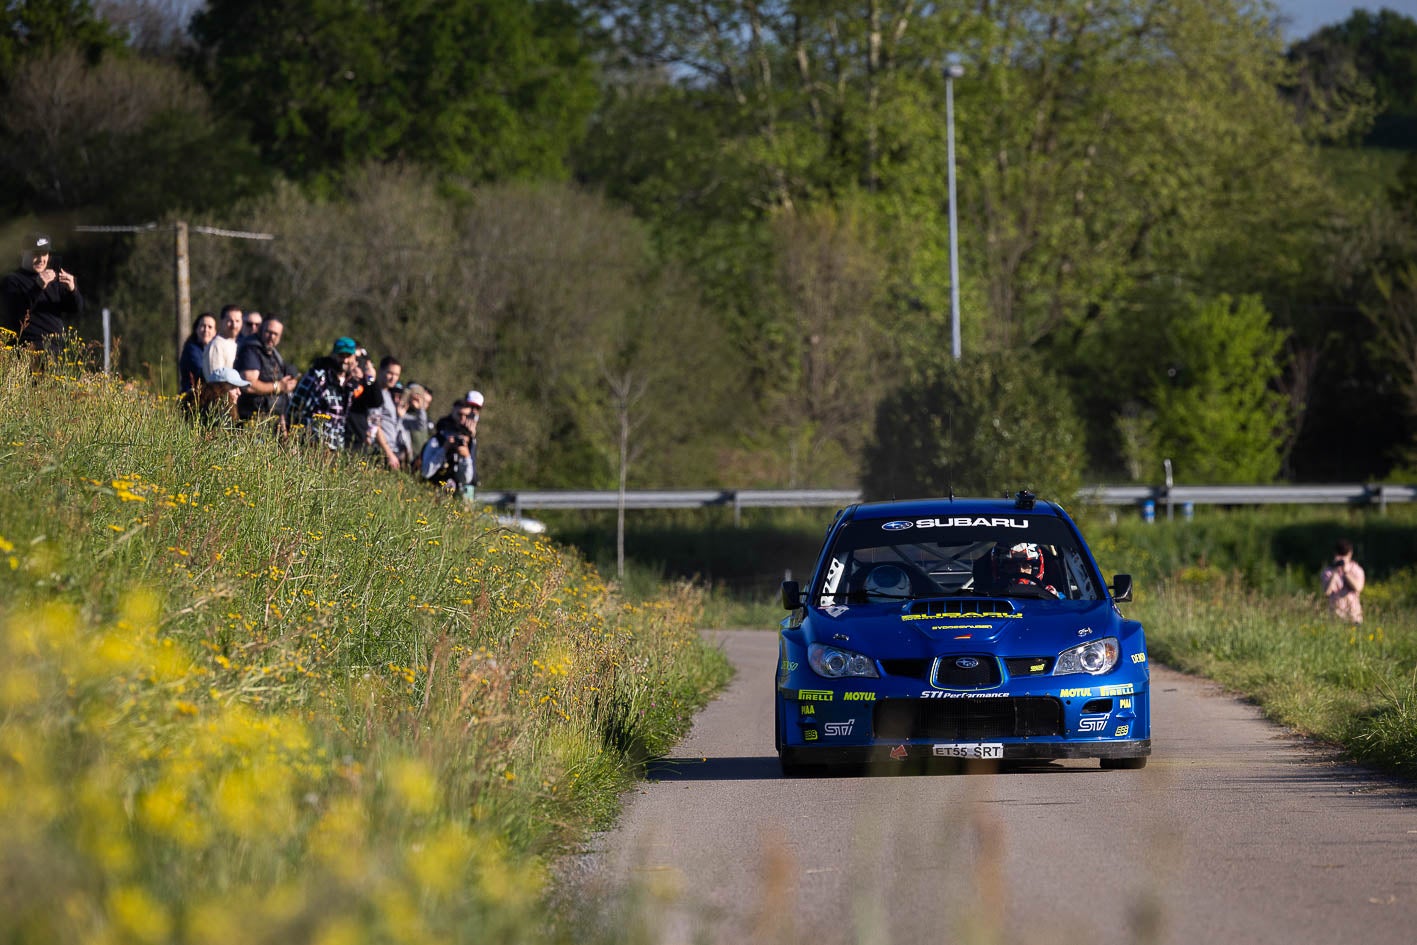
<path fill-rule="evenodd" d="M 1063 734 L 1063 703 L 1022 698 L 886 698 L 871 720 L 877 738 L 1034 738 Z"/>

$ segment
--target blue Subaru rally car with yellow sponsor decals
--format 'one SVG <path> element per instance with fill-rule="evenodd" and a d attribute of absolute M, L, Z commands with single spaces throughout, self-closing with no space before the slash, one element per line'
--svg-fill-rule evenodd
<path fill-rule="evenodd" d="M 803 592 L 782 585 L 784 774 L 930 758 L 1151 754 L 1146 639 L 1063 509 L 1013 499 L 852 506 Z"/>

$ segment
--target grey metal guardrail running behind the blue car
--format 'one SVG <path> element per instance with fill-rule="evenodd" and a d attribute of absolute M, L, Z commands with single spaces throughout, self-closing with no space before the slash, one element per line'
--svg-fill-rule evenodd
<path fill-rule="evenodd" d="M 479 492 L 478 500 L 512 509 L 520 517 L 524 509 L 616 509 L 614 490 Z M 625 493 L 626 509 L 706 509 L 733 507 L 734 521 L 743 509 L 842 507 L 860 502 L 854 489 L 687 489 L 632 490 Z M 1088 486 L 1077 500 L 1100 506 L 1379 506 L 1417 502 L 1417 486 L 1331 485 L 1331 486 Z"/>

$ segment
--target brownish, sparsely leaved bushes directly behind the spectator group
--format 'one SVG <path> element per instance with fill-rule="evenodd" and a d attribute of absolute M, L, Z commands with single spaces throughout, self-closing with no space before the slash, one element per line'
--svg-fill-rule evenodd
<path fill-rule="evenodd" d="M 631 483 L 718 480 L 713 451 L 734 435 L 721 415 L 741 387 L 724 326 L 622 208 L 564 184 L 487 186 L 465 204 L 431 174 L 371 166 L 346 177 L 340 200 L 285 186 L 237 225 L 281 239 L 194 234 L 193 307 L 286 316 L 282 353 L 299 368 L 351 334 L 429 387 L 435 417 L 482 390 L 489 487 L 611 487 L 609 383 L 625 377 L 648 385 Z M 170 242 L 154 237 L 123 269 L 120 332 L 150 340 L 129 346 L 128 370 L 174 357 L 169 265 Z"/>

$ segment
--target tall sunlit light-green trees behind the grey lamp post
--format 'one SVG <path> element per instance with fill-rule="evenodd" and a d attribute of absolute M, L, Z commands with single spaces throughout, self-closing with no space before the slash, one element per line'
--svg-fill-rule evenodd
<path fill-rule="evenodd" d="M 616 74 L 582 170 L 703 273 L 765 402 L 794 358 L 772 235 L 794 215 L 849 214 L 870 234 L 869 312 L 874 337 L 891 340 L 887 361 L 938 357 L 949 50 L 966 68 L 955 82 L 965 350 L 1037 350 L 1087 377 L 1100 465 L 1119 462 L 1112 417 L 1135 391 L 1098 377 L 1102 339 L 1178 290 L 1292 285 L 1339 218 L 1312 129 L 1280 94 L 1291 67 L 1264 4 L 585 6 L 640 68 Z M 1325 120 L 1360 120 L 1359 109 L 1340 99 Z"/>

